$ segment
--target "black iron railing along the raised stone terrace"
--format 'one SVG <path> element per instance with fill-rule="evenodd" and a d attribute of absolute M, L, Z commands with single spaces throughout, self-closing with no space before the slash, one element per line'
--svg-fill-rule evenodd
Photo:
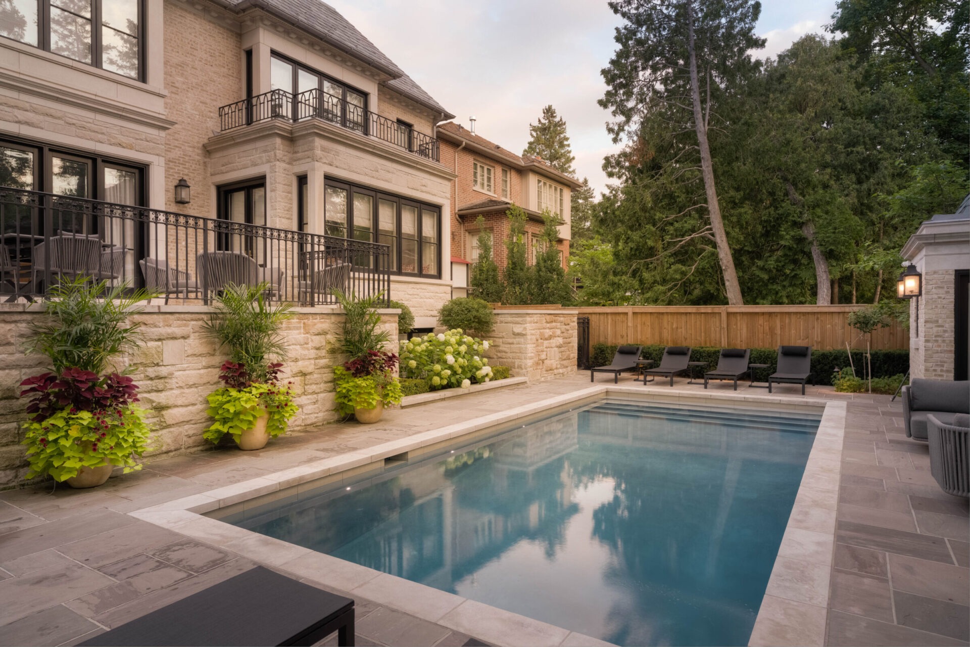
<path fill-rule="evenodd" d="M 334 305 L 336 292 L 390 299 L 386 244 L 0 186 L 0 301 L 36 300 L 65 279 L 147 287 L 208 304 L 230 283 Z"/>

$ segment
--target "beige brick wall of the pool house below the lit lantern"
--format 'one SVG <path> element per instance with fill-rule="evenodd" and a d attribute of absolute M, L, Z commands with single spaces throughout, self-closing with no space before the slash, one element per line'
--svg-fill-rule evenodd
<path fill-rule="evenodd" d="M 953 270 L 929 270 L 922 275 L 920 297 L 920 337 L 910 340 L 910 367 L 913 377 L 954 378 L 954 307 L 956 284 Z M 916 300 L 910 305 L 916 316 Z M 910 326 L 910 335 L 916 328 Z"/>

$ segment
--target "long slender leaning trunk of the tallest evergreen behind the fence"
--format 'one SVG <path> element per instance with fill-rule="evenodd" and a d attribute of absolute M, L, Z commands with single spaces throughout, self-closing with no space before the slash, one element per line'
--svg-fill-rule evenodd
<path fill-rule="evenodd" d="M 694 128 L 697 133 L 697 147 L 700 149 L 700 169 L 704 178 L 704 191 L 707 193 L 707 213 L 711 218 L 711 230 L 714 233 L 714 242 L 718 248 L 718 260 L 721 262 L 721 273 L 725 278 L 725 291 L 727 292 L 727 304 L 729 306 L 743 306 L 744 300 L 741 298 L 741 284 L 737 281 L 737 272 L 734 270 L 734 259 L 730 254 L 730 247 L 727 245 L 727 234 L 725 224 L 721 219 L 721 206 L 718 203 L 718 193 L 714 188 L 714 165 L 711 162 L 711 149 L 707 145 L 707 128 L 700 110 L 700 83 L 697 81 L 697 57 L 694 42 L 694 7 L 687 4 L 687 48 L 691 57 L 691 97 L 694 100 Z M 710 107 L 708 106 L 708 110 Z"/>

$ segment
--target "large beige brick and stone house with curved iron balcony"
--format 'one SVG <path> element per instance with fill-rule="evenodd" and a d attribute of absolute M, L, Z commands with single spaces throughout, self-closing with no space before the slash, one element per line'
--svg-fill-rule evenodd
<path fill-rule="evenodd" d="M 435 136 L 453 115 L 333 8 L 7 7 L 0 185 L 388 243 L 392 297 L 434 324 L 451 294 L 447 261 L 464 253 L 450 245 L 454 173 Z M 181 178 L 189 204 L 176 204 Z M 125 254 L 140 280 L 146 251 Z"/>

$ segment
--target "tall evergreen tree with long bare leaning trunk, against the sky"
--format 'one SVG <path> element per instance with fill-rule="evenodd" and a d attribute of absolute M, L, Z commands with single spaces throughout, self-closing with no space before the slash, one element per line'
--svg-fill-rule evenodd
<path fill-rule="evenodd" d="M 696 246 L 695 270 L 710 246 L 705 239 L 713 241 L 727 303 L 741 305 L 708 134 L 713 127 L 727 128 L 728 122 L 717 114 L 719 101 L 739 91 L 758 70 L 750 52 L 764 47 L 754 32 L 760 2 L 614 0 L 609 6 L 625 22 L 615 36 L 619 48 L 602 71 L 608 89 L 599 105 L 617 117 L 608 126 L 614 142 L 630 136 L 626 154 L 614 156 L 612 169 L 648 162 L 653 169 L 640 178 L 647 180 L 648 191 L 687 193 L 687 210 L 664 213 L 681 220 L 673 229 L 682 229 L 684 220 L 695 223 L 689 227 L 693 231 L 678 231 L 674 237 L 663 234 L 663 248 L 649 260 L 662 264 L 663 256 L 672 251 Z M 661 136 L 665 149 L 658 149 L 648 135 Z M 644 206 L 661 207 L 651 199 Z M 706 217 L 698 218 L 695 211 L 701 209 Z"/>

